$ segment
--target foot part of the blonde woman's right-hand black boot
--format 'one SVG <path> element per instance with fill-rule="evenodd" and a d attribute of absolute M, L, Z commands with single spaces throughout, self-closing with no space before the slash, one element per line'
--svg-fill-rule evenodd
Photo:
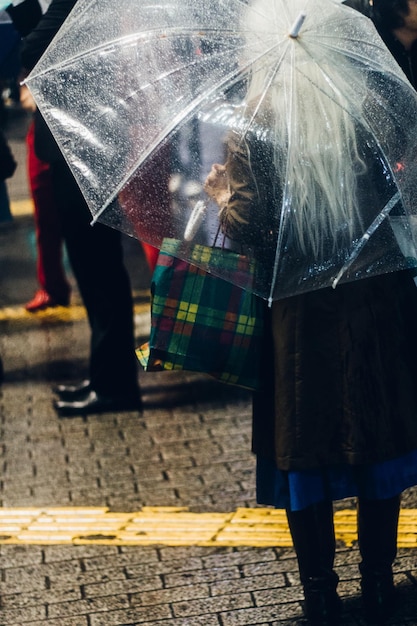
<path fill-rule="evenodd" d="M 369 624 L 384 624 L 398 608 L 392 575 L 362 575 L 362 606 Z"/>

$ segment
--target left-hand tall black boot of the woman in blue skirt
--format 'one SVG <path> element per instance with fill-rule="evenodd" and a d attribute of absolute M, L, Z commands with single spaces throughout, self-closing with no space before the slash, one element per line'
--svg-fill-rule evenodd
<path fill-rule="evenodd" d="M 333 505 L 322 502 L 302 511 L 287 511 L 304 589 L 305 614 L 312 626 L 337 626 L 341 600 L 333 571 L 336 542 Z"/>

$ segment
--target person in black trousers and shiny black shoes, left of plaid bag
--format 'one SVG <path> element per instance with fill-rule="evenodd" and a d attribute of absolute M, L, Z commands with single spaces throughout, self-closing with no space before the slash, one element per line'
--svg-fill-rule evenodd
<path fill-rule="evenodd" d="M 38 25 L 24 39 L 22 65 L 30 71 L 76 0 L 53 0 Z M 91 328 L 90 376 L 76 385 L 59 385 L 54 403 L 62 416 L 140 410 L 135 355 L 133 301 L 123 262 L 121 233 L 91 226 L 81 191 L 43 118 L 35 113 L 35 150 L 51 164 L 52 182 L 68 257 Z"/>

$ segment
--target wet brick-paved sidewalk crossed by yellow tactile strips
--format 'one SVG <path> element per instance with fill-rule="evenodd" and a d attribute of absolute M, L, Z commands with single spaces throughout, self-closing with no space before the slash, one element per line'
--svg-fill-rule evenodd
<path fill-rule="evenodd" d="M 9 129 L 14 207 L 28 199 L 24 123 L 16 116 Z M 301 626 L 285 524 L 268 525 L 256 506 L 249 394 L 202 375 L 140 371 L 143 415 L 59 419 L 50 388 L 85 375 L 88 325 L 75 285 L 70 309 L 24 312 L 37 285 L 22 213 L 0 229 L 0 626 Z M 149 273 L 137 242 L 125 249 L 139 344 Z M 417 509 L 415 489 L 403 506 Z M 354 502 L 336 508 L 350 513 L 346 539 Z M 236 541 L 226 531 L 245 517 Z M 415 525 L 404 517 L 404 541 Z M 275 545 L 271 528 L 282 531 Z M 339 540 L 343 626 L 364 624 L 358 561 L 355 542 Z M 401 610 L 390 624 L 416 626 L 415 548 L 399 549 L 395 576 Z"/>

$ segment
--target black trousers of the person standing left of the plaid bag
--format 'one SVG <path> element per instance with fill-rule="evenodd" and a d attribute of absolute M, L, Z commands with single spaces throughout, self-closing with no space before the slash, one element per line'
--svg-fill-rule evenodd
<path fill-rule="evenodd" d="M 68 258 L 91 328 L 90 380 L 104 395 L 135 394 L 133 301 L 121 233 L 92 216 L 64 161 L 51 163 Z"/>

